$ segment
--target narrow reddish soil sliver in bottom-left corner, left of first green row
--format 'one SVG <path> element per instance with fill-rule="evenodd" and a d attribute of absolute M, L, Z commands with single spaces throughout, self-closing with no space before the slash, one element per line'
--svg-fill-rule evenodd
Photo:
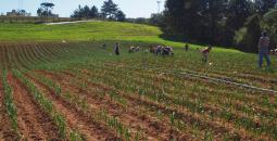
<path fill-rule="evenodd" d="M 1 76 L 1 74 L 0 74 Z M 12 126 L 7 114 L 4 105 L 4 93 L 2 82 L 0 80 L 0 140 L 14 141 L 18 138 L 12 130 Z"/>

